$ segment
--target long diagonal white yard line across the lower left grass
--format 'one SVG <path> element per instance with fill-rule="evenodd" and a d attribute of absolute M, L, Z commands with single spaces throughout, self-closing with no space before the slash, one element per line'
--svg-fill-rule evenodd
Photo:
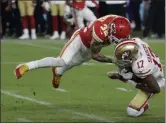
<path fill-rule="evenodd" d="M 8 95 L 8 96 L 15 97 L 15 98 L 24 99 L 24 100 L 27 100 L 27 101 L 30 101 L 30 102 L 33 102 L 33 103 L 36 103 L 36 104 L 39 104 L 39 105 L 45 105 L 45 106 L 48 106 L 48 107 L 51 107 L 51 108 L 55 107 L 55 105 L 53 105 L 53 104 L 51 104 L 49 102 L 39 101 L 39 100 L 36 100 L 34 98 L 29 98 L 29 97 L 26 97 L 26 96 L 14 94 L 14 93 L 11 93 L 9 91 L 2 90 L 2 89 L 1 89 L 1 93 L 5 94 L 5 95 Z M 83 113 L 83 112 L 76 112 L 76 111 L 73 111 L 73 110 L 63 109 L 63 108 L 60 108 L 60 110 L 63 111 L 63 112 L 72 113 L 74 115 L 83 116 L 83 117 L 86 117 L 86 118 L 89 118 L 89 119 L 93 119 L 93 120 L 97 120 L 97 121 L 101 121 L 101 122 L 114 122 L 112 120 L 105 119 L 105 118 L 103 118 L 101 116 L 97 116 L 97 115 L 94 115 L 94 114 L 88 114 L 88 113 Z"/>

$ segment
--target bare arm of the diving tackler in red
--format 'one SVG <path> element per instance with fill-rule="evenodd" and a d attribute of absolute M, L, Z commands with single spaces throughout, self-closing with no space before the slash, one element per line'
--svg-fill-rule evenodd
<path fill-rule="evenodd" d="M 102 47 L 103 45 L 101 42 L 97 41 L 91 42 L 90 50 L 91 50 L 92 59 L 98 62 L 114 63 L 113 58 L 100 54 Z"/>

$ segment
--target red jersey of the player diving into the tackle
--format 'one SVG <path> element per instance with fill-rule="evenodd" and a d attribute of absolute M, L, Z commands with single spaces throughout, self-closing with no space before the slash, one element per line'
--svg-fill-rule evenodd
<path fill-rule="evenodd" d="M 98 18 L 93 23 L 86 27 L 80 29 L 80 37 L 83 44 L 90 48 L 92 37 L 98 41 L 102 42 L 103 45 L 109 45 L 108 40 L 108 25 L 117 15 L 106 15 L 104 17 Z"/>

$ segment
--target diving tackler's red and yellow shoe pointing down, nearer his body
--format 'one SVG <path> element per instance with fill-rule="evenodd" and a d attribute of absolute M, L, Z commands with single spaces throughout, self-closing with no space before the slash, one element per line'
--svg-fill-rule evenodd
<path fill-rule="evenodd" d="M 56 74 L 56 68 L 55 67 L 52 68 L 52 72 L 53 72 L 52 85 L 54 86 L 54 88 L 58 88 L 62 75 L 57 75 Z"/>

